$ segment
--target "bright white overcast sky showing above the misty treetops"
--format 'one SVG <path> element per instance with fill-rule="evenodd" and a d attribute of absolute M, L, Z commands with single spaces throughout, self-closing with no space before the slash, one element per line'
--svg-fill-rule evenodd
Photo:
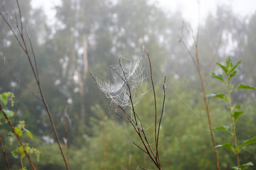
<path fill-rule="evenodd" d="M 159 6 L 166 11 L 181 10 L 182 16 L 189 21 L 193 28 L 198 23 L 197 0 L 156 0 Z M 54 22 L 54 5 L 60 0 L 32 0 L 33 8 L 43 8 L 49 19 L 49 24 Z M 217 5 L 228 5 L 241 16 L 251 15 L 256 11 L 256 0 L 200 0 L 200 22 L 203 23 L 208 13 L 215 14 Z"/>

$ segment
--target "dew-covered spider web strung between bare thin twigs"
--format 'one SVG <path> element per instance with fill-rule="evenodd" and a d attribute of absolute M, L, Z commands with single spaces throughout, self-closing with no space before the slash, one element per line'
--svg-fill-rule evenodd
<path fill-rule="evenodd" d="M 132 60 L 120 56 L 120 62 L 108 67 L 108 81 L 103 81 L 92 73 L 99 89 L 111 99 L 110 105 L 121 107 L 138 104 L 142 96 L 149 90 L 147 87 L 148 56 L 143 50 L 140 56 Z M 129 86 L 129 87 L 128 87 Z M 131 99 L 130 99 L 131 94 Z"/>

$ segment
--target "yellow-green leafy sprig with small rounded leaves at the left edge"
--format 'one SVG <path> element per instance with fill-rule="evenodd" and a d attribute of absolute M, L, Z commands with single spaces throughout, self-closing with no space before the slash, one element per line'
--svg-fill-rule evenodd
<path fill-rule="evenodd" d="M 2 124 L 2 119 L 5 119 L 5 123 L 10 123 L 9 118 L 13 116 L 13 111 L 10 111 L 8 109 L 6 109 L 6 106 L 8 104 L 8 101 L 10 101 L 11 106 L 13 107 L 14 105 L 14 94 L 11 92 L 4 92 L 2 94 L 0 94 L 0 124 Z M 1 107 L 1 104 L 3 104 L 3 107 Z M 16 127 L 12 127 L 13 132 L 9 132 L 9 140 L 10 140 L 10 144 L 12 145 L 13 141 L 15 140 L 15 138 L 17 137 L 18 142 L 21 142 L 19 137 L 21 137 L 23 135 L 23 132 L 26 132 L 27 136 L 30 137 L 31 139 L 33 139 L 33 134 L 25 128 L 26 124 L 25 121 L 19 121 L 19 124 Z M 21 164 L 21 169 L 20 170 L 27 170 L 27 168 L 25 166 L 23 166 L 23 158 L 26 156 L 26 154 L 31 154 L 34 153 L 36 155 L 37 161 L 39 161 L 39 157 L 40 157 L 40 151 L 37 150 L 34 147 L 30 147 L 29 143 L 20 143 L 20 146 L 17 147 L 15 150 L 12 151 L 12 155 L 15 158 L 18 158 L 18 155 L 20 155 L 20 164 Z M 5 159 L 7 159 L 5 157 Z"/>

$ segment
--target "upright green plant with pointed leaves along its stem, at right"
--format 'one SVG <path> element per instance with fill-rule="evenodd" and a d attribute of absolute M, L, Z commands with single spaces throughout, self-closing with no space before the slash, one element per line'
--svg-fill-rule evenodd
<path fill-rule="evenodd" d="M 209 94 L 209 95 L 207 95 L 207 96 L 212 96 L 212 97 L 217 97 L 217 98 L 223 99 L 228 103 L 231 124 L 232 124 L 231 131 L 228 129 L 228 126 L 216 127 L 216 128 L 213 128 L 212 130 L 223 130 L 223 131 L 229 132 L 233 136 L 233 138 L 234 138 L 233 143 L 226 143 L 223 145 L 217 145 L 215 147 L 224 147 L 228 150 L 231 150 L 236 155 L 237 166 L 232 167 L 232 169 L 234 169 L 234 170 L 243 170 L 248 166 L 253 166 L 252 162 L 248 162 L 246 164 L 240 165 L 239 153 L 246 145 L 256 142 L 256 137 L 252 137 L 251 139 L 243 141 L 243 143 L 241 145 L 238 145 L 237 140 L 236 140 L 236 128 L 235 128 L 236 121 L 237 121 L 238 117 L 241 116 L 241 114 L 243 114 L 244 112 L 237 111 L 238 109 L 241 108 L 241 104 L 232 105 L 230 94 L 233 91 L 238 90 L 238 89 L 256 90 L 254 87 L 251 87 L 248 85 L 243 85 L 243 84 L 240 84 L 236 88 L 235 88 L 235 84 L 230 85 L 230 80 L 238 74 L 238 71 L 236 71 L 236 68 L 240 63 L 241 63 L 241 60 L 238 61 L 238 63 L 236 63 L 236 65 L 233 66 L 230 57 L 228 57 L 228 59 L 226 60 L 226 66 L 223 66 L 222 64 L 217 63 L 221 67 L 221 69 L 223 69 L 223 71 L 225 72 L 227 79 L 224 79 L 222 74 L 216 75 L 215 73 L 211 73 L 210 76 L 212 76 L 212 78 L 219 79 L 220 81 L 222 81 L 225 84 L 225 86 L 227 87 L 228 94 Z"/>

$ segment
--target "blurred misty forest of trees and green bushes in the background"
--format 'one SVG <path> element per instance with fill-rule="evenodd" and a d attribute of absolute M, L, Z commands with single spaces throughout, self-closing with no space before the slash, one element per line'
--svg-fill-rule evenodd
<path fill-rule="evenodd" d="M 0 0 L 1 4 L 3 0 Z M 13 11 L 11 1 L 6 9 Z M 166 74 L 165 115 L 159 134 L 159 155 L 164 170 L 213 170 L 216 169 L 212 141 L 207 124 L 204 100 L 197 93 L 202 91 L 200 77 L 193 65 L 186 44 L 192 54 L 192 38 L 183 33 L 189 21 L 180 12 L 164 12 L 156 3 L 146 0 L 61 0 L 56 6 L 56 22 L 47 25 L 46 15 L 33 9 L 30 0 L 20 1 L 20 9 L 33 42 L 41 87 L 59 134 L 64 153 L 66 137 L 63 119 L 67 120 L 69 166 L 72 170 L 136 169 L 138 165 L 153 169 L 149 157 L 132 141 L 139 139 L 130 124 L 112 113 L 108 99 L 102 93 L 89 70 L 108 78 L 107 66 L 118 62 L 119 55 L 133 59 L 143 46 L 151 57 L 156 98 L 159 106 L 163 98 Z M 1 9 L 2 10 L 2 6 Z M 188 26 L 189 27 L 189 26 Z M 183 32 L 182 32 L 183 30 Z M 215 64 L 225 63 L 228 56 L 233 63 L 242 60 L 239 74 L 233 83 L 256 87 L 256 13 L 239 17 L 226 6 L 219 6 L 216 15 L 209 14 L 200 25 L 198 56 L 205 76 L 212 56 L 216 57 L 210 72 L 221 73 Z M 196 34 L 197 30 L 191 34 Z M 219 39 L 221 41 L 219 43 Z M 4 57 L 6 66 L 4 66 Z M 14 107 L 17 118 L 26 122 L 33 139 L 21 137 L 41 151 L 40 160 L 32 157 L 37 170 L 64 170 L 65 164 L 54 137 L 44 104 L 11 76 L 9 69 L 36 94 L 39 94 L 31 67 L 8 25 L 0 18 L 0 93 L 15 94 Z M 187 83 L 189 81 L 189 83 Z M 194 88 L 192 88 L 195 87 Z M 225 86 L 207 78 L 206 94 L 225 93 Z M 241 103 L 245 114 L 236 124 L 238 142 L 256 135 L 256 96 L 254 90 L 238 90 L 231 95 L 234 104 Z M 209 98 L 212 127 L 230 124 L 228 105 L 220 99 Z M 158 108 L 160 109 L 160 107 Z M 148 134 L 154 133 L 154 96 L 146 93 L 136 110 L 141 114 Z M 152 112 L 153 111 L 153 112 Z M 105 116 L 107 117 L 105 119 Z M 11 121 L 14 122 L 14 118 Z M 11 151 L 18 143 L 10 145 L 8 124 L 0 125 L 3 146 L 11 169 L 20 169 L 20 160 Z M 214 131 L 216 145 L 228 143 L 233 138 L 227 132 Z M 154 142 L 154 139 L 150 138 Z M 218 148 L 221 170 L 236 166 L 236 157 L 225 148 Z M 67 156 L 67 155 L 66 155 Z M 241 163 L 256 165 L 255 143 L 245 147 L 240 154 Z M 26 158 L 24 165 L 30 169 Z M 0 154 L 0 170 L 6 169 Z M 248 167 L 253 170 L 254 167 Z"/>

